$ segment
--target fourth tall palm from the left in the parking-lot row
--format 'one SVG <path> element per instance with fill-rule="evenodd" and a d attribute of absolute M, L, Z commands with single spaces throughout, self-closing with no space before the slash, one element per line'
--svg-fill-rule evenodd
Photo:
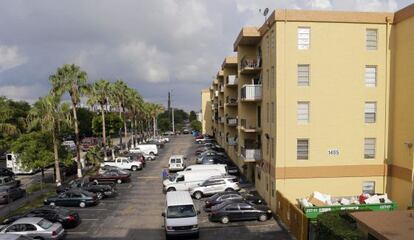
<path fill-rule="evenodd" d="M 111 85 L 111 98 L 114 104 L 117 105 L 119 117 L 122 119 L 124 123 L 124 137 L 128 137 L 127 133 L 127 126 L 126 126 L 126 116 L 125 116 L 125 108 L 126 102 L 128 99 L 128 86 L 125 84 L 124 81 L 117 80 L 115 83 Z M 122 131 L 122 129 L 120 129 Z M 122 145 L 122 136 L 120 136 L 119 140 L 120 144 Z"/>

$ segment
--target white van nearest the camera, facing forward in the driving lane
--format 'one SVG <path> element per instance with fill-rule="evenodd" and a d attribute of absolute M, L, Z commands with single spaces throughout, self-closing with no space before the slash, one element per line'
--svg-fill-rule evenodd
<path fill-rule="evenodd" d="M 167 193 L 164 217 L 165 236 L 194 235 L 198 238 L 199 228 L 193 199 L 188 192 L 177 191 Z"/>

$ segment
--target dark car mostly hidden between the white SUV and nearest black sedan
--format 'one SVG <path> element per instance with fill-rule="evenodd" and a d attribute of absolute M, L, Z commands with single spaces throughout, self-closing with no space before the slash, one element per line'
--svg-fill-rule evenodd
<path fill-rule="evenodd" d="M 240 192 L 221 192 L 216 193 L 213 196 L 209 197 L 204 205 L 204 210 L 210 211 L 213 206 L 216 206 L 224 201 L 231 202 L 231 201 L 239 201 L 239 200 L 246 200 L 249 203 L 254 204 L 263 204 L 264 201 L 261 197 L 251 194 L 251 193 L 240 193 Z"/>

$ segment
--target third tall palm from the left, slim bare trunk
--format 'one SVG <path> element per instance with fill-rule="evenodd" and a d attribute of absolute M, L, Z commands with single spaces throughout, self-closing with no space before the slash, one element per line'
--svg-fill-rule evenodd
<path fill-rule="evenodd" d="M 106 129 L 105 129 L 105 107 L 109 103 L 109 90 L 111 84 L 104 79 L 94 82 L 89 89 L 88 104 L 91 106 L 99 105 L 102 116 L 102 139 L 104 143 L 104 152 L 106 157 Z"/>

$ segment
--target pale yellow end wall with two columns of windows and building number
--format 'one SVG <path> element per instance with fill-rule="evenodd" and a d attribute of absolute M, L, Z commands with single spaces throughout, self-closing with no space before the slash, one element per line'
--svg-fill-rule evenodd
<path fill-rule="evenodd" d="M 297 28 L 310 27 L 310 48 L 298 50 Z M 366 50 L 367 28 L 378 29 L 378 49 Z M 387 41 L 385 24 L 277 22 L 276 23 L 276 188 L 288 198 L 305 197 L 313 191 L 359 194 L 364 179 L 359 165 L 376 169 L 376 191 L 384 192 L 387 141 Z M 310 85 L 297 84 L 297 65 L 310 65 Z M 377 66 L 377 86 L 366 87 L 365 66 Z M 309 123 L 297 122 L 297 102 L 308 101 Z M 375 123 L 364 122 L 365 101 L 377 102 Z M 309 139 L 308 160 L 297 160 L 297 139 Z M 376 138 L 374 159 L 364 159 L 364 138 Z M 338 155 L 328 154 L 338 150 Z M 317 167 L 331 166 L 309 178 Z M 352 166 L 358 173 L 340 184 L 341 169 Z M 361 171 L 368 171 L 369 168 Z M 283 175 L 288 171 L 289 175 Z M 367 173 L 368 174 L 368 173 Z M 383 179 L 383 180 L 381 180 Z M 284 182 L 284 185 L 278 185 Z M 295 182 L 295 191 L 289 187 Z M 291 182 L 291 183 L 290 183 Z M 338 184 L 343 187 L 338 188 Z M 319 186 L 319 187 L 318 187 Z M 321 190 L 322 189 L 322 190 Z M 286 190 L 286 192 L 283 192 Z"/>

